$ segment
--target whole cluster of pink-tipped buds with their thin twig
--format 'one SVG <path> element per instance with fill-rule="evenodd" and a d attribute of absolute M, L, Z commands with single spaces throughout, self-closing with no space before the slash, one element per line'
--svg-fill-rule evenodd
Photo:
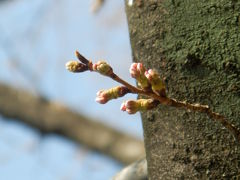
<path fill-rule="evenodd" d="M 122 97 L 127 93 L 145 94 L 150 97 L 152 94 L 155 94 L 161 97 L 166 97 L 165 85 L 159 74 L 155 70 L 147 70 L 142 63 L 133 63 L 129 70 L 131 76 L 137 80 L 139 87 L 137 88 L 131 86 L 114 74 L 112 67 L 107 62 L 98 61 L 97 63 L 92 63 L 83 57 L 78 51 L 76 51 L 76 56 L 80 62 L 67 62 L 67 70 L 71 72 L 84 72 L 87 70 L 98 72 L 104 76 L 111 77 L 115 81 L 124 85 L 98 91 L 95 100 L 100 104 L 105 104 L 108 101 Z M 159 101 L 154 99 L 128 100 L 122 103 L 121 110 L 126 111 L 129 114 L 135 114 L 138 111 L 152 109 L 158 104 Z"/>

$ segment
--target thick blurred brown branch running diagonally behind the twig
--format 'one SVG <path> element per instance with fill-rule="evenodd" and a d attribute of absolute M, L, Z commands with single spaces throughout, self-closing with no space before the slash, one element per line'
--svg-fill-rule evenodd
<path fill-rule="evenodd" d="M 59 103 L 4 84 L 0 84 L 0 114 L 46 133 L 65 135 L 126 164 L 144 156 L 140 140 L 72 112 Z"/>

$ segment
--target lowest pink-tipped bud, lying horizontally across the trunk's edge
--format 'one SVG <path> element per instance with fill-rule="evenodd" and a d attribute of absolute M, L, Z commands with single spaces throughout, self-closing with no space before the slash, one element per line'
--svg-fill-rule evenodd
<path fill-rule="evenodd" d="M 138 111 L 152 109 L 158 104 L 159 102 L 153 99 L 128 100 L 122 103 L 120 109 L 127 111 L 128 114 L 135 114 Z"/>

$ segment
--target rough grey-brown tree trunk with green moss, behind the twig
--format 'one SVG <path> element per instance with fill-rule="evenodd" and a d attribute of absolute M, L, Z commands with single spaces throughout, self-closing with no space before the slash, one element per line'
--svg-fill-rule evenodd
<path fill-rule="evenodd" d="M 240 127 L 240 1 L 126 1 L 133 60 L 157 69 L 169 97 L 206 104 Z M 237 179 L 240 145 L 204 113 L 142 113 L 149 179 Z"/>

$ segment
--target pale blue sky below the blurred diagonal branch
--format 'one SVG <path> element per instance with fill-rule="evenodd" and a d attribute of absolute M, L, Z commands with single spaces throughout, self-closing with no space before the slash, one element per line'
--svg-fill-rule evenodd
<path fill-rule="evenodd" d="M 0 174 L 6 180 L 105 180 L 122 168 L 69 139 L 0 117 Z"/>

